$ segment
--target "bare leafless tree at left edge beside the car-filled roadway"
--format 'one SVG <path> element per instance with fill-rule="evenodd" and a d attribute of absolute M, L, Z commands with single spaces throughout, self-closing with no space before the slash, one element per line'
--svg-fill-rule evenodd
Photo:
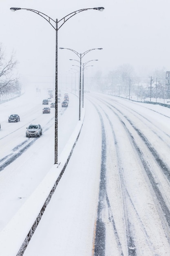
<path fill-rule="evenodd" d="M 0 45 L 0 99 L 5 94 L 20 94 L 20 84 L 16 75 L 16 65 L 13 54 L 6 58 L 4 49 Z"/>

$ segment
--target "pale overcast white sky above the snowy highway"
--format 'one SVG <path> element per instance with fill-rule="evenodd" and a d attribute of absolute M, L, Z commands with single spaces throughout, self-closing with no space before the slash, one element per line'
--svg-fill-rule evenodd
<path fill-rule="evenodd" d="M 58 47 L 89 52 L 82 59 L 91 59 L 97 70 L 107 74 L 115 67 L 129 63 L 135 70 L 152 70 L 165 67 L 170 70 L 170 2 L 169 0 L 1 0 L 0 42 L 7 53 L 12 49 L 19 62 L 18 73 L 28 83 L 53 83 L 55 74 L 55 30 L 35 13 L 10 7 L 41 11 L 55 20 L 83 8 L 103 6 L 103 12 L 88 10 L 75 15 L 58 31 Z M 69 61 L 78 59 L 73 52 L 60 50 L 59 76 L 69 75 Z M 72 70 L 73 71 L 73 70 Z"/>

